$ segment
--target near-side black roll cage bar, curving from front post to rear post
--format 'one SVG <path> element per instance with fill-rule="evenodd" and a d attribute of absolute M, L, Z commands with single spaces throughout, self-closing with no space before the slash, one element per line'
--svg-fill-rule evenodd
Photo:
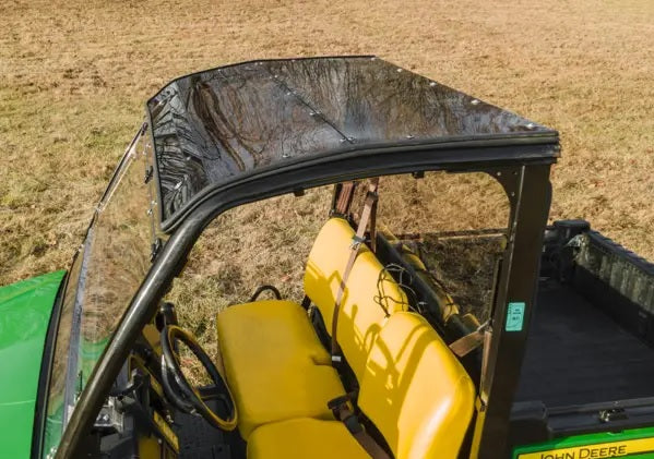
<path fill-rule="evenodd" d="M 218 215 L 263 198 L 355 179 L 448 171 L 490 174 L 502 185 L 511 205 L 508 243 L 492 304 L 492 339 L 476 400 L 471 450 L 472 458 L 506 458 L 508 421 L 531 323 L 540 247 L 551 198 L 549 170 L 557 156 L 556 137 L 510 146 L 495 142 L 485 145 L 441 145 L 440 148 L 414 149 L 411 154 L 403 148 L 389 148 L 373 157 L 370 150 L 362 150 L 289 165 L 274 173 L 262 171 L 212 190 L 170 229 L 169 239 L 156 254 L 148 274 L 91 374 L 55 457 L 76 457 L 75 452 L 88 434 L 132 343 L 155 316 L 160 300 L 173 279 L 181 273 L 197 239 Z M 525 304 L 524 327 L 518 331 L 507 331 L 507 306 L 514 301 Z"/>

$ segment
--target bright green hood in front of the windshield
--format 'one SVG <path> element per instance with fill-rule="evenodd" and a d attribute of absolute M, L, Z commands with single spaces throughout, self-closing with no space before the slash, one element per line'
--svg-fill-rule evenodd
<path fill-rule="evenodd" d="M 27 458 L 52 305 L 66 271 L 0 287 L 1 457 Z"/>

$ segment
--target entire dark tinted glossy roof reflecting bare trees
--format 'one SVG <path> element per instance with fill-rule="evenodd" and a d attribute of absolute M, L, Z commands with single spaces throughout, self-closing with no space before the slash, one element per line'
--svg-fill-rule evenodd
<path fill-rule="evenodd" d="M 210 188 L 289 161 L 456 141 L 558 142 L 555 131 L 374 57 L 207 70 L 175 80 L 147 109 L 163 220 Z"/>

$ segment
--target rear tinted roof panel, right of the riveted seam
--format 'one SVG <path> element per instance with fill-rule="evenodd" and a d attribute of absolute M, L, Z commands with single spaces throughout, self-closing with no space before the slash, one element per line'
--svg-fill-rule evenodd
<path fill-rule="evenodd" d="M 269 68 L 358 143 L 545 130 L 378 58 L 282 61 L 270 62 Z"/>

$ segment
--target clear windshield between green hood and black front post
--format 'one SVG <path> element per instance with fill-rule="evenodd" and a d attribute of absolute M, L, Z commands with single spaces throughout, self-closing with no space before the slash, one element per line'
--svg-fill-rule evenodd
<path fill-rule="evenodd" d="M 44 456 L 59 444 L 76 398 L 150 266 L 143 142 L 139 135 L 126 153 L 70 270 L 48 390 Z"/>

